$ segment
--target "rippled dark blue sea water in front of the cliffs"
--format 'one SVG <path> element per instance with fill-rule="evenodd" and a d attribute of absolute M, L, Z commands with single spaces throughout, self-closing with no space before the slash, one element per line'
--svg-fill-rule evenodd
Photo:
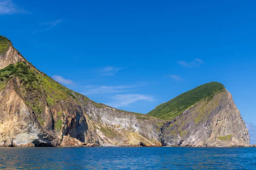
<path fill-rule="evenodd" d="M 0 169 L 256 169 L 256 148 L 2 147 Z"/>

